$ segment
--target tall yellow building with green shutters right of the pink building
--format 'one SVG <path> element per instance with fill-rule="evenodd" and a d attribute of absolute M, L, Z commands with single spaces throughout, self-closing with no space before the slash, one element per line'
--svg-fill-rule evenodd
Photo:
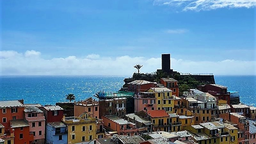
<path fill-rule="evenodd" d="M 166 87 L 150 88 L 148 92 L 154 92 L 156 97 L 157 110 L 164 109 L 167 113 L 173 113 L 174 97 L 172 90 Z"/>

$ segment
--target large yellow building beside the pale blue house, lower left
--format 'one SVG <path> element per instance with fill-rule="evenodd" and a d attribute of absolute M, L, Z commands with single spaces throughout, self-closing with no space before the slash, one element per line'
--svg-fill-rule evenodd
<path fill-rule="evenodd" d="M 68 127 L 68 144 L 95 140 L 96 119 L 83 113 L 80 116 L 63 117 L 62 122 Z"/>

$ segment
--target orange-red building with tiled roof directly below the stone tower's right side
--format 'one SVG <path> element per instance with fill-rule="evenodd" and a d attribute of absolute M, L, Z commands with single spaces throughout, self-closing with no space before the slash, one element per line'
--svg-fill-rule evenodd
<path fill-rule="evenodd" d="M 172 95 L 179 96 L 178 81 L 173 78 L 161 78 L 161 84 L 172 90 Z"/>

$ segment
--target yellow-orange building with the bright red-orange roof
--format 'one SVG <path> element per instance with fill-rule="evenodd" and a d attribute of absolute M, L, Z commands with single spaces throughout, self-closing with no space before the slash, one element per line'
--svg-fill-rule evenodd
<path fill-rule="evenodd" d="M 170 120 L 168 113 L 165 110 L 148 110 L 147 115 L 150 121 L 153 123 L 152 131 L 170 131 Z"/>

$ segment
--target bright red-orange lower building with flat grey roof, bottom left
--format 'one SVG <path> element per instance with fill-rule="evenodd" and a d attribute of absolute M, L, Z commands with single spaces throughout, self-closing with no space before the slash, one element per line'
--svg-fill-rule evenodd
<path fill-rule="evenodd" d="M 31 144 L 34 141 L 33 132 L 29 131 L 28 121 L 12 120 L 11 129 L 14 129 L 14 144 Z"/>

